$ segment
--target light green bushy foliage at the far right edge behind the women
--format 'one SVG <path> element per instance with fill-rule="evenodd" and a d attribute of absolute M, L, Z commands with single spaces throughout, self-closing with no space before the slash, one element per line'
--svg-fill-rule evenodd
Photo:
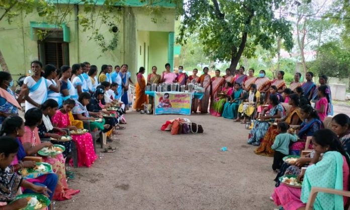
<path fill-rule="evenodd" d="M 350 48 L 339 42 L 328 42 L 317 49 L 317 57 L 307 63 L 308 68 L 318 74 L 345 78 L 350 73 Z"/>

